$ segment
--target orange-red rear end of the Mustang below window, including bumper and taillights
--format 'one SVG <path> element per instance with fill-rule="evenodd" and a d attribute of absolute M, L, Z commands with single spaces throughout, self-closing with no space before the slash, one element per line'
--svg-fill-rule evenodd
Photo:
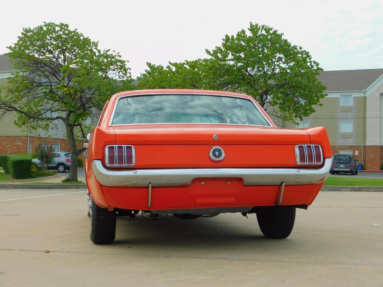
<path fill-rule="evenodd" d="M 114 116 L 121 115 L 115 111 Z M 263 126 L 113 124 L 112 117 L 93 131 L 87 157 L 92 160 L 86 162 L 96 203 L 109 210 L 306 208 L 331 166 L 331 148 L 321 127 L 277 129 L 271 120 Z M 223 150 L 222 160 L 212 160 L 214 147 Z"/>

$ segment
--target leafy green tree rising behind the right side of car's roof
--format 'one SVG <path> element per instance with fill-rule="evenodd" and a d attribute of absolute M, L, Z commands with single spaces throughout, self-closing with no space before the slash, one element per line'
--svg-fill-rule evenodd
<path fill-rule="evenodd" d="M 283 33 L 250 22 L 248 33 L 242 29 L 222 40 L 221 46 L 206 49 L 221 90 L 250 95 L 269 114 L 287 121 L 309 116 L 313 105 L 321 105 L 326 86 L 316 76 L 323 69 Z"/>

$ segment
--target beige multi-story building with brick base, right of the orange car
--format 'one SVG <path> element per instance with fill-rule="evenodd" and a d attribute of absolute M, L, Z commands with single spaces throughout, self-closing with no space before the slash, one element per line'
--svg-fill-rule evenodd
<path fill-rule="evenodd" d="M 323 106 L 298 125 L 326 127 L 332 153 L 352 153 L 367 170 L 383 163 L 383 69 L 324 71 L 318 79 L 327 87 Z"/>

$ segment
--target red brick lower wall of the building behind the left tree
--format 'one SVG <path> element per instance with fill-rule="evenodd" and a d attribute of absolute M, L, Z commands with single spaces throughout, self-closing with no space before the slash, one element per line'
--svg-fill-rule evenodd
<path fill-rule="evenodd" d="M 17 155 L 20 153 L 26 154 L 28 153 L 27 149 L 28 137 L 19 136 L 19 137 L 9 137 L 9 136 L 0 136 L 0 155 Z M 60 144 L 61 152 L 70 152 L 69 148 L 69 140 L 67 139 L 55 139 L 55 138 L 44 138 L 44 137 L 29 137 L 29 148 L 32 153 L 41 142 L 47 142 L 50 145 L 52 143 Z M 82 147 L 83 142 L 79 141 L 77 143 L 77 148 Z M 79 158 L 82 160 L 85 159 L 84 153 L 82 152 L 79 155 Z"/>

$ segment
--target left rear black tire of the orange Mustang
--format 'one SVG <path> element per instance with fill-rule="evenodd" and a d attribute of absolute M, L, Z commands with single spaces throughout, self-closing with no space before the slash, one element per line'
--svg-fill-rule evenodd
<path fill-rule="evenodd" d="M 95 244 L 112 243 L 116 238 L 116 212 L 100 208 L 94 200 L 90 209 L 90 240 Z"/>

